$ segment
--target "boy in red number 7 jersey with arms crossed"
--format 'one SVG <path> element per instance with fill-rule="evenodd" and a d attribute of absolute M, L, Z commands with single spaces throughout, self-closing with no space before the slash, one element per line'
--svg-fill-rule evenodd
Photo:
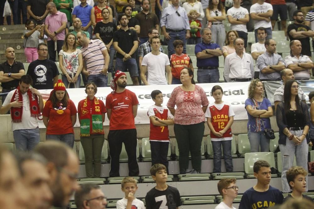
<path fill-rule="evenodd" d="M 160 163 L 168 170 L 169 130 L 168 125 L 173 125 L 173 116 L 161 104 L 164 100 L 161 91 L 154 90 L 150 94 L 154 105 L 148 108 L 147 115 L 150 119 L 149 143 L 152 155 L 152 166 Z"/>

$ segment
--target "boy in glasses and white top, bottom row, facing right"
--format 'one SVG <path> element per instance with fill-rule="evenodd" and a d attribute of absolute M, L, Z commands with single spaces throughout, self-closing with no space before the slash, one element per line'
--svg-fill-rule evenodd
<path fill-rule="evenodd" d="M 219 194 L 224 200 L 215 207 L 215 209 L 236 209 L 232 206 L 233 200 L 238 195 L 239 187 L 236 186 L 236 179 L 221 179 L 218 184 Z"/>

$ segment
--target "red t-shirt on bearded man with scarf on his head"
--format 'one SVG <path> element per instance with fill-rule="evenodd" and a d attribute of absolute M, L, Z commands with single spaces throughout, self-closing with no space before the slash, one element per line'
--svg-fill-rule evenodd
<path fill-rule="evenodd" d="M 138 99 L 130 90 L 121 93 L 108 94 L 106 108 L 111 109 L 109 130 L 125 130 L 135 128 L 133 106 L 138 105 Z"/>

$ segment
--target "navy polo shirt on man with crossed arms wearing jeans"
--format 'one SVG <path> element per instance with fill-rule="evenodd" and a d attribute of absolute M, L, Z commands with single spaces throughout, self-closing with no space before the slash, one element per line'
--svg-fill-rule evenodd
<path fill-rule="evenodd" d="M 202 52 L 203 50 L 206 49 L 220 49 L 220 46 L 216 43 L 209 43 L 209 44 L 205 44 L 204 42 L 196 44 L 195 45 L 195 55 L 198 52 Z M 219 58 L 217 56 L 214 57 L 210 57 L 210 58 L 206 58 L 206 59 L 199 59 L 196 58 L 197 60 L 197 64 L 196 66 L 198 68 L 202 68 L 202 67 L 219 67 Z"/>

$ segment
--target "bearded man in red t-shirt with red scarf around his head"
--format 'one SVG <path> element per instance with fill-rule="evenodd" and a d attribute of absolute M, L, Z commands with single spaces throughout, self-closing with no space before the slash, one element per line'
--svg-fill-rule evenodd
<path fill-rule="evenodd" d="M 119 157 L 122 143 L 128 156 L 129 176 L 138 176 L 136 159 L 137 132 L 134 118 L 137 114 L 138 99 L 132 91 L 127 90 L 127 76 L 117 71 L 111 81 L 113 91 L 106 98 L 107 116 L 109 118 L 108 142 L 111 156 L 110 177 L 120 176 Z"/>

